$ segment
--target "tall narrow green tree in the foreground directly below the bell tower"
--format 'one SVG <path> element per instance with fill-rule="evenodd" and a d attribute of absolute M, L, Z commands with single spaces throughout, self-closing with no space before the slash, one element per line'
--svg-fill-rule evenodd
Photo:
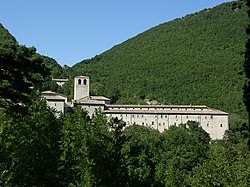
<path fill-rule="evenodd" d="M 87 112 L 80 108 L 64 118 L 60 157 L 62 186 L 92 186 L 91 160 L 87 146 L 90 125 Z"/>

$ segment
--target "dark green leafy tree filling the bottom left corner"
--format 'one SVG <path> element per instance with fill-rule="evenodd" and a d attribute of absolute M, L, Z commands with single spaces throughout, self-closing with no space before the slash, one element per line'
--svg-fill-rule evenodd
<path fill-rule="evenodd" d="M 33 97 L 25 115 L 0 121 L 0 186 L 56 186 L 61 124 L 46 102 Z"/>

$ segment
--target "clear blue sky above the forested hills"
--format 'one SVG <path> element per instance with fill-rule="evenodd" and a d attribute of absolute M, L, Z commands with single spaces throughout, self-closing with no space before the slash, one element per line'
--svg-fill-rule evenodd
<path fill-rule="evenodd" d="M 99 55 L 161 23 L 228 0 L 0 0 L 0 23 L 61 66 Z"/>

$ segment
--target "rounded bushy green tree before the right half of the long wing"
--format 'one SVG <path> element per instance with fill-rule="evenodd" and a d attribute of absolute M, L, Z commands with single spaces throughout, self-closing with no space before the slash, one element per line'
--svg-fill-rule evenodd
<path fill-rule="evenodd" d="M 192 168 L 206 158 L 208 134 L 197 122 L 188 122 L 179 127 L 171 126 L 161 136 L 156 181 L 165 186 L 187 186 Z"/>

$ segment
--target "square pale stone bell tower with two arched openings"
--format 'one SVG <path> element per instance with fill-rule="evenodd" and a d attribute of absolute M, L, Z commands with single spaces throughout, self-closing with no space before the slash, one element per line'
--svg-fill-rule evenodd
<path fill-rule="evenodd" d="M 77 76 L 74 81 L 74 100 L 89 96 L 89 77 Z"/>

